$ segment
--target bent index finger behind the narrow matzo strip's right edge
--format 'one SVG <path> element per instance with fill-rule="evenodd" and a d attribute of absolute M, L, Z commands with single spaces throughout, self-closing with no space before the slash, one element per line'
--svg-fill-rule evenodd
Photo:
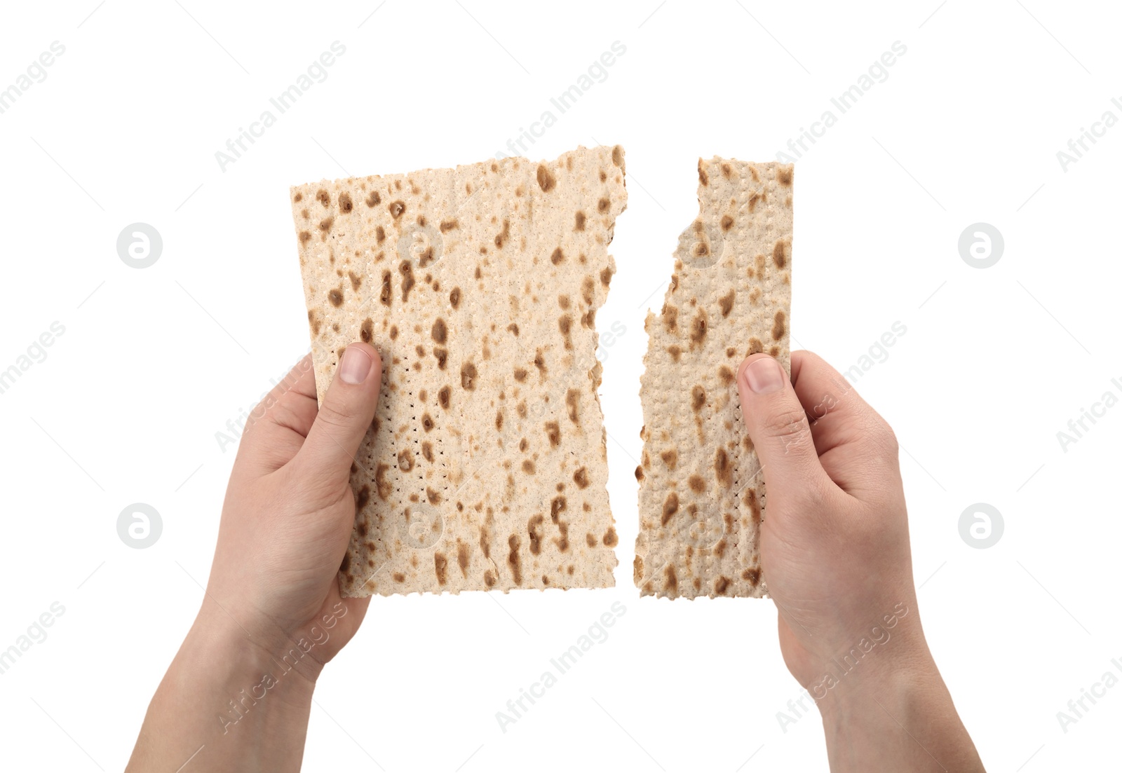
<path fill-rule="evenodd" d="M 858 499 L 865 491 L 881 490 L 885 473 L 899 472 L 899 450 L 888 422 L 818 355 L 792 352 L 791 376 L 826 473 Z"/>

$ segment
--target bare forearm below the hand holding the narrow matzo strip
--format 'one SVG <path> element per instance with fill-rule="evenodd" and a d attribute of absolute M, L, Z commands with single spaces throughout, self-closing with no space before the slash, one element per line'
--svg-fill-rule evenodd
<path fill-rule="evenodd" d="M 982 773 L 982 760 L 929 654 L 840 683 L 819 701 L 831 773 Z"/>

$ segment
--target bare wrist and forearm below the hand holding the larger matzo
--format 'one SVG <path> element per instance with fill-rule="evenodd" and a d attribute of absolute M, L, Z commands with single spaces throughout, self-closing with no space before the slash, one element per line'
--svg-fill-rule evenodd
<path fill-rule="evenodd" d="M 160 682 L 127 773 L 187 760 L 185 773 L 300 770 L 314 688 L 307 664 L 272 656 L 211 606 Z"/>

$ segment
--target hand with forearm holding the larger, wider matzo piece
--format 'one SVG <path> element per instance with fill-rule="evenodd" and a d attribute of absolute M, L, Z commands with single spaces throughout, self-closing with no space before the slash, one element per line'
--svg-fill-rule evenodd
<path fill-rule="evenodd" d="M 343 352 L 316 409 L 305 357 L 254 411 L 230 473 L 202 608 L 160 682 L 128 771 L 300 770 L 312 691 L 369 599 L 339 595 L 350 468 L 381 359 Z"/>

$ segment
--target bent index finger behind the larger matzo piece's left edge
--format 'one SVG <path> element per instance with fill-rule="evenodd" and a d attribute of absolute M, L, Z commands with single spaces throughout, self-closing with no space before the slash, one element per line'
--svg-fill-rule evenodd
<path fill-rule="evenodd" d="M 291 460 L 315 421 L 315 372 L 305 355 L 292 370 L 250 409 L 238 455 L 250 475 L 279 469 Z M 237 426 L 229 426 L 234 431 Z"/>

